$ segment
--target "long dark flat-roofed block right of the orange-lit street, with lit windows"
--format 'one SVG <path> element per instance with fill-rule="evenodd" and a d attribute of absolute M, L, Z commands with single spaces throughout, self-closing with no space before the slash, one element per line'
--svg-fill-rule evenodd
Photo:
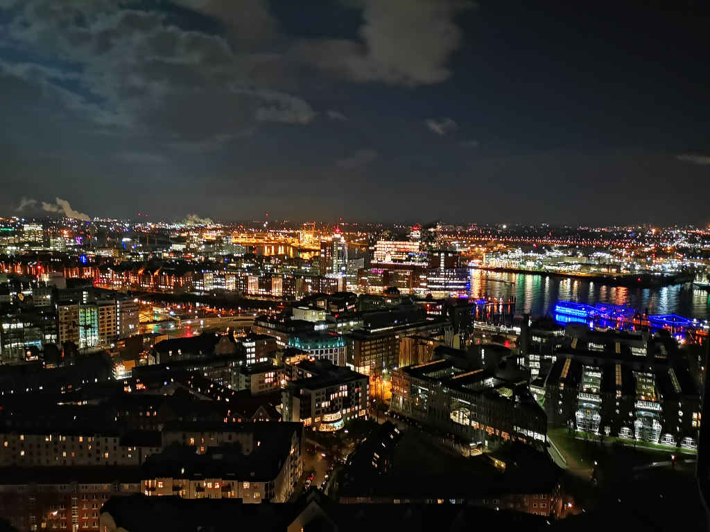
<path fill-rule="evenodd" d="M 463 360 L 432 360 L 392 375 L 391 409 L 486 448 L 520 441 L 545 448 L 547 416 L 525 380 Z"/>

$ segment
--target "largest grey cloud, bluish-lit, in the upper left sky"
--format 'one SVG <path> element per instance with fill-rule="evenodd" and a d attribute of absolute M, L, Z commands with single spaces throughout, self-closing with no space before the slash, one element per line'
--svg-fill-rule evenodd
<path fill-rule="evenodd" d="M 70 67 L 6 61 L 3 72 L 41 84 L 78 117 L 100 126 L 195 142 L 258 122 L 307 123 L 315 115 L 300 97 L 253 79 L 250 71 L 261 55 L 232 50 L 222 35 L 173 26 L 166 13 L 100 0 L 20 5 L 9 40 Z"/>

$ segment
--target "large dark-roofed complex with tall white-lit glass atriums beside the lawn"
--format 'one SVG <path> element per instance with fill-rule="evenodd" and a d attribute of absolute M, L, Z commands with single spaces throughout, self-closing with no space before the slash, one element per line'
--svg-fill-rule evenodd
<path fill-rule="evenodd" d="M 596 331 L 568 340 L 545 379 L 551 426 L 696 447 L 699 391 L 674 340 Z"/>

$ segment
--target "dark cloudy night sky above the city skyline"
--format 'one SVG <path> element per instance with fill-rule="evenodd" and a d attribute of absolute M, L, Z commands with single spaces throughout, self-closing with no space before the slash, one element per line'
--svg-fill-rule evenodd
<path fill-rule="evenodd" d="M 706 224 L 705 5 L 0 0 L 0 215 Z"/>

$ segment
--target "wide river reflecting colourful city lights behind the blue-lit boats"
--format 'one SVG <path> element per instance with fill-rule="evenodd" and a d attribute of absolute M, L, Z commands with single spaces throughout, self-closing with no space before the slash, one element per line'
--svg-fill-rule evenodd
<path fill-rule="evenodd" d="M 471 270 L 471 296 L 515 297 L 515 311 L 532 316 L 552 316 L 552 308 L 562 299 L 587 304 L 626 304 L 639 311 L 648 309 L 650 314 L 710 318 L 710 293 L 694 288 L 692 283 L 633 288 L 546 275 Z"/>

